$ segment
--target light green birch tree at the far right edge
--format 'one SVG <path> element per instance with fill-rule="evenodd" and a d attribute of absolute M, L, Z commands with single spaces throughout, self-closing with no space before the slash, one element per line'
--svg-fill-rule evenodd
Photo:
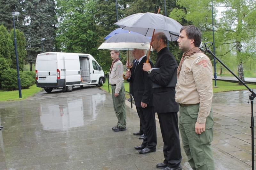
<path fill-rule="evenodd" d="M 256 57 L 256 3 L 254 0 L 223 0 L 219 5 L 226 7 L 220 19 L 220 31 L 225 43 L 230 45 L 229 51 L 235 52 L 238 77 L 244 81 L 243 64 Z"/>

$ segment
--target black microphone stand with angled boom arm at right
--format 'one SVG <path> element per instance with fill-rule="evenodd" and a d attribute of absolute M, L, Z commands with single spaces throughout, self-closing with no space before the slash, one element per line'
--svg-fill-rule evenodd
<path fill-rule="evenodd" d="M 220 59 L 218 59 L 212 52 L 211 50 L 209 49 L 210 46 L 206 46 L 207 44 L 211 44 L 210 46 L 212 46 L 212 42 L 206 42 L 204 43 L 204 46 L 206 48 L 206 51 L 210 54 L 212 54 L 212 56 L 218 60 L 220 62 L 220 64 L 222 64 L 225 68 L 227 68 L 227 70 L 233 74 L 238 81 L 240 81 L 252 94 L 249 96 L 249 101 L 251 100 L 251 110 L 252 110 L 252 115 L 251 115 L 251 126 L 250 128 L 252 129 L 252 170 L 254 170 L 254 118 L 253 118 L 253 99 L 256 97 L 256 94 L 253 92 L 252 89 L 250 89 L 245 83 L 244 81 L 242 81 L 239 77 L 236 76 L 236 74 L 234 74 L 223 62 L 220 61 Z M 248 103 L 249 103 L 248 101 Z"/>

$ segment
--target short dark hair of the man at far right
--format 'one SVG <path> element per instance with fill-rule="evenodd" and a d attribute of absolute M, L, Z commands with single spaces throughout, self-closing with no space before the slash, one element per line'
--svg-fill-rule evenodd
<path fill-rule="evenodd" d="M 186 26 L 183 26 L 180 29 L 180 32 L 182 30 L 186 31 L 188 39 L 194 39 L 194 45 L 195 46 L 200 46 L 201 39 L 202 39 L 202 34 L 201 34 L 201 31 L 199 30 L 199 28 L 197 28 L 194 25 L 186 25 Z"/>

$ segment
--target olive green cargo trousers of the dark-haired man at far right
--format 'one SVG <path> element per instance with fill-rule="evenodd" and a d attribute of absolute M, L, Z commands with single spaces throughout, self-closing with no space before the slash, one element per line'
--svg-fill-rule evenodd
<path fill-rule="evenodd" d="M 182 145 L 188 162 L 193 170 L 214 170 L 214 159 L 211 148 L 213 139 L 213 114 L 206 118 L 205 131 L 196 134 L 195 124 L 199 111 L 199 104 L 180 106 L 179 129 Z"/>

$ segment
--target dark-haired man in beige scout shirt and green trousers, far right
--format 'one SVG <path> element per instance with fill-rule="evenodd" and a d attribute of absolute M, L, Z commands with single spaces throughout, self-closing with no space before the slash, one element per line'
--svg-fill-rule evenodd
<path fill-rule="evenodd" d="M 201 32 L 184 26 L 177 41 L 184 53 L 177 70 L 175 101 L 180 104 L 179 129 L 193 170 L 214 170 L 212 63 L 198 48 Z"/>

